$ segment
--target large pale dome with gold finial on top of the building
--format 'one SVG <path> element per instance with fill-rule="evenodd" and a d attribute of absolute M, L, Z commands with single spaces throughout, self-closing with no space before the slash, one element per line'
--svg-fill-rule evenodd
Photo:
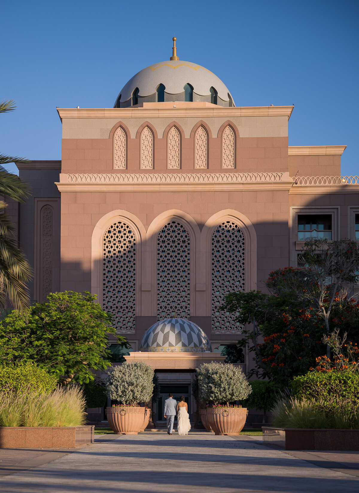
<path fill-rule="evenodd" d="M 121 89 L 115 108 L 141 103 L 207 102 L 218 106 L 235 106 L 228 88 L 210 70 L 177 57 L 173 37 L 169 61 L 140 70 Z"/>

